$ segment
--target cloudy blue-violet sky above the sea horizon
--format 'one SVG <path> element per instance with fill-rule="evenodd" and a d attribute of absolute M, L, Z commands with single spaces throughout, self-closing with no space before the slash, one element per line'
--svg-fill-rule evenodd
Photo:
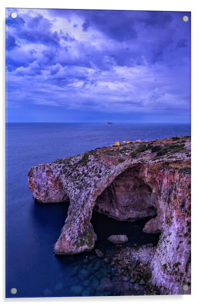
<path fill-rule="evenodd" d="M 190 12 L 8 8 L 7 122 L 190 123 L 190 51 Z"/>

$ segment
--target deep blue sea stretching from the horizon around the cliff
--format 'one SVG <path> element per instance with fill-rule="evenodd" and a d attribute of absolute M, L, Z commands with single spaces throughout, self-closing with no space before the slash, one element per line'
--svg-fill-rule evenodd
<path fill-rule="evenodd" d="M 111 268 L 93 252 L 55 256 L 53 245 L 67 216 L 67 203 L 39 204 L 28 190 L 27 171 L 36 164 L 109 146 L 115 141 L 153 140 L 190 135 L 189 125 L 178 124 L 8 124 L 6 203 L 6 296 L 96 295 Z M 97 247 L 113 233 L 126 233 L 130 243 L 156 243 L 157 235 L 142 233 L 146 221 L 118 223 L 95 213 Z M 100 225 L 104 225 L 104 231 Z M 109 244 L 108 244 L 109 243 Z M 86 257 L 87 256 L 87 257 Z M 100 266 L 100 269 L 98 267 Z M 10 289 L 17 288 L 11 295 Z"/>

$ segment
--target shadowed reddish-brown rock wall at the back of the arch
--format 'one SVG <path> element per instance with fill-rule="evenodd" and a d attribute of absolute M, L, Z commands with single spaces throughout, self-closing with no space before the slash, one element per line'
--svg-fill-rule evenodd
<path fill-rule="evenodd" d="M 155 201 L 140 166 L 135 166 L 119 174 L 99 195 L 95 209 L 117 220 L 133 221 L 155 216 Z"/>

